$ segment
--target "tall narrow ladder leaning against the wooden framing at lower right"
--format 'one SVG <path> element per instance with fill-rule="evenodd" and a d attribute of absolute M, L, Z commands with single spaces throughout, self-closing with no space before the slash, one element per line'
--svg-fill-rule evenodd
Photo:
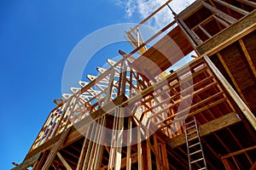
<path fill-rule="evenodd" d="M 199 129 L 196 124 L 195 116 L 192 121 L 185 121 L 184 125 L 189 157 L 189 170 L 192 169 L 193 164 L 197 164 L 199 170 L 207 169 L 207 162 L 202 150 Z"/>

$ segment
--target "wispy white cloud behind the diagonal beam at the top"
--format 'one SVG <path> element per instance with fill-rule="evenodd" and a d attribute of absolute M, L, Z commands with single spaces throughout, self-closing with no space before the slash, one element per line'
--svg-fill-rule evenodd
<path fill-rule="evenodd" d="M 119 7 L 125 9 L 126 16 L 131 18 L 134 14 L 138 14 L 141 20 L 152 14 L 155 9 L 159 8 L 166 0 L 115 0 Z M 195 0 L 173 0 L 169 5 L 178 14 L 189 6 Z M 169 8 L 163 8 L 158 14 L 155 14 L 148 25 L 160 29 L 173 20 L 172 12 Z"/>

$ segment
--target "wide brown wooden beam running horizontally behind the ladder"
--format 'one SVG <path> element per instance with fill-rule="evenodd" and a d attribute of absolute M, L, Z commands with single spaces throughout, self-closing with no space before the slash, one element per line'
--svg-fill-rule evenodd
<path fill-rule="evenodd" d="M 206 136 L 211 133 L 215 133 L 218 130 L 221 130 L 225 127 L 230 127 L 230 125 L 235 124 L 236 122 L 240 122 L 240 118 L 236 115 L 236 113 L 229 113 L 227 115 L 218 117 L 217 119 L 207 122 L 199 127 L 200 136 Z M 185 134 L 178 135 L 171 139 L 172 148 L 176 148 L 182 144 L 186 144 Z"/>

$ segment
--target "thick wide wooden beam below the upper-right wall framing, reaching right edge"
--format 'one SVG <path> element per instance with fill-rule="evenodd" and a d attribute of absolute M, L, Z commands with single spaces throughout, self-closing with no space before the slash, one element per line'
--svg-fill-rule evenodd
<path fill-rule="evenodd" d="M 196 50 L 201 56 L 211 56 L 217 53 L 251 31 L 254 31 L 256 28 L 255 20 L 256 10 L 253 10 L 253 12 L 241 18 L 241 20 L 238 20 L 235 24 L 227 27 L 224 31 L 220 31 L 218 34 L 199 45 Z"/>

